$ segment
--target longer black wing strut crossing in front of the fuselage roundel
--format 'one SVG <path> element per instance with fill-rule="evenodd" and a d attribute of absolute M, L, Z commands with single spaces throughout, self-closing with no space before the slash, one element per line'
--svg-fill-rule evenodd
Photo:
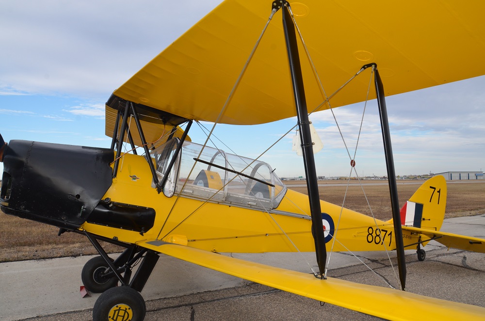
<path fill-rule="evenodd" d="M 274 2 L 276 3 L 276 2 Z M 273 6 L 275 7 L 276 4 Z M 295 98 L 298 127 L 302 142 L 303 162 L 305 164 L 305 175 L 307 177 L 308 199 L 310 202 L 310 213 L 312 232 L 315 239 L 315 253 L 317 255 L 320 277 L 324 278 L 325 261 L 327 252 L 325 248 L 325 235 L 323 234 L 322 210 L 320 209 L 320 195 L 318 193 L 317 172 L 315 159 L 313 157 L 313 143 L 311 142 L 310 122 L 308 120 L 307 100 L 303 87 L 303 76 L 298 54 L 298 43 L 296 41 L 295 26 L 291 19 L 288 1 L 283 5 L 283 29 L 285 32 L 286 49 L 290 64 L 291 83 Z"/>

